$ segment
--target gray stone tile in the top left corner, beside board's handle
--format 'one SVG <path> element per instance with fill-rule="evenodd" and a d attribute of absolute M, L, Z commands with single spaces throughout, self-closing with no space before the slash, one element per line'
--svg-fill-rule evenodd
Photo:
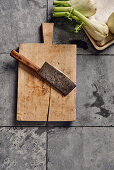
<path fill-rule="evenodd" d="M 46 21 L 47 0 L 0 1 L 0 53 L 20 43 L 40 42 L 40 25 Z"/>

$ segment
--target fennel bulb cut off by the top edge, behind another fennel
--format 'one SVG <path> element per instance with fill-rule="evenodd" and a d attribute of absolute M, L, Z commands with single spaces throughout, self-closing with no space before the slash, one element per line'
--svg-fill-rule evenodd
<path fill-rule="evenodd" d="M 96 0 L 69 0 L 54 1 L 54 5 L 59 7 L 71 7 L 81 12 L 86 17 L 90 17 L 96 13 Z M 65 12 L 65 8 L 61 8 L 61 12 Z M 68 9 L 68 8 L 67 8 Z M 70 9 L 70 8 L 69 8 Z"/>

